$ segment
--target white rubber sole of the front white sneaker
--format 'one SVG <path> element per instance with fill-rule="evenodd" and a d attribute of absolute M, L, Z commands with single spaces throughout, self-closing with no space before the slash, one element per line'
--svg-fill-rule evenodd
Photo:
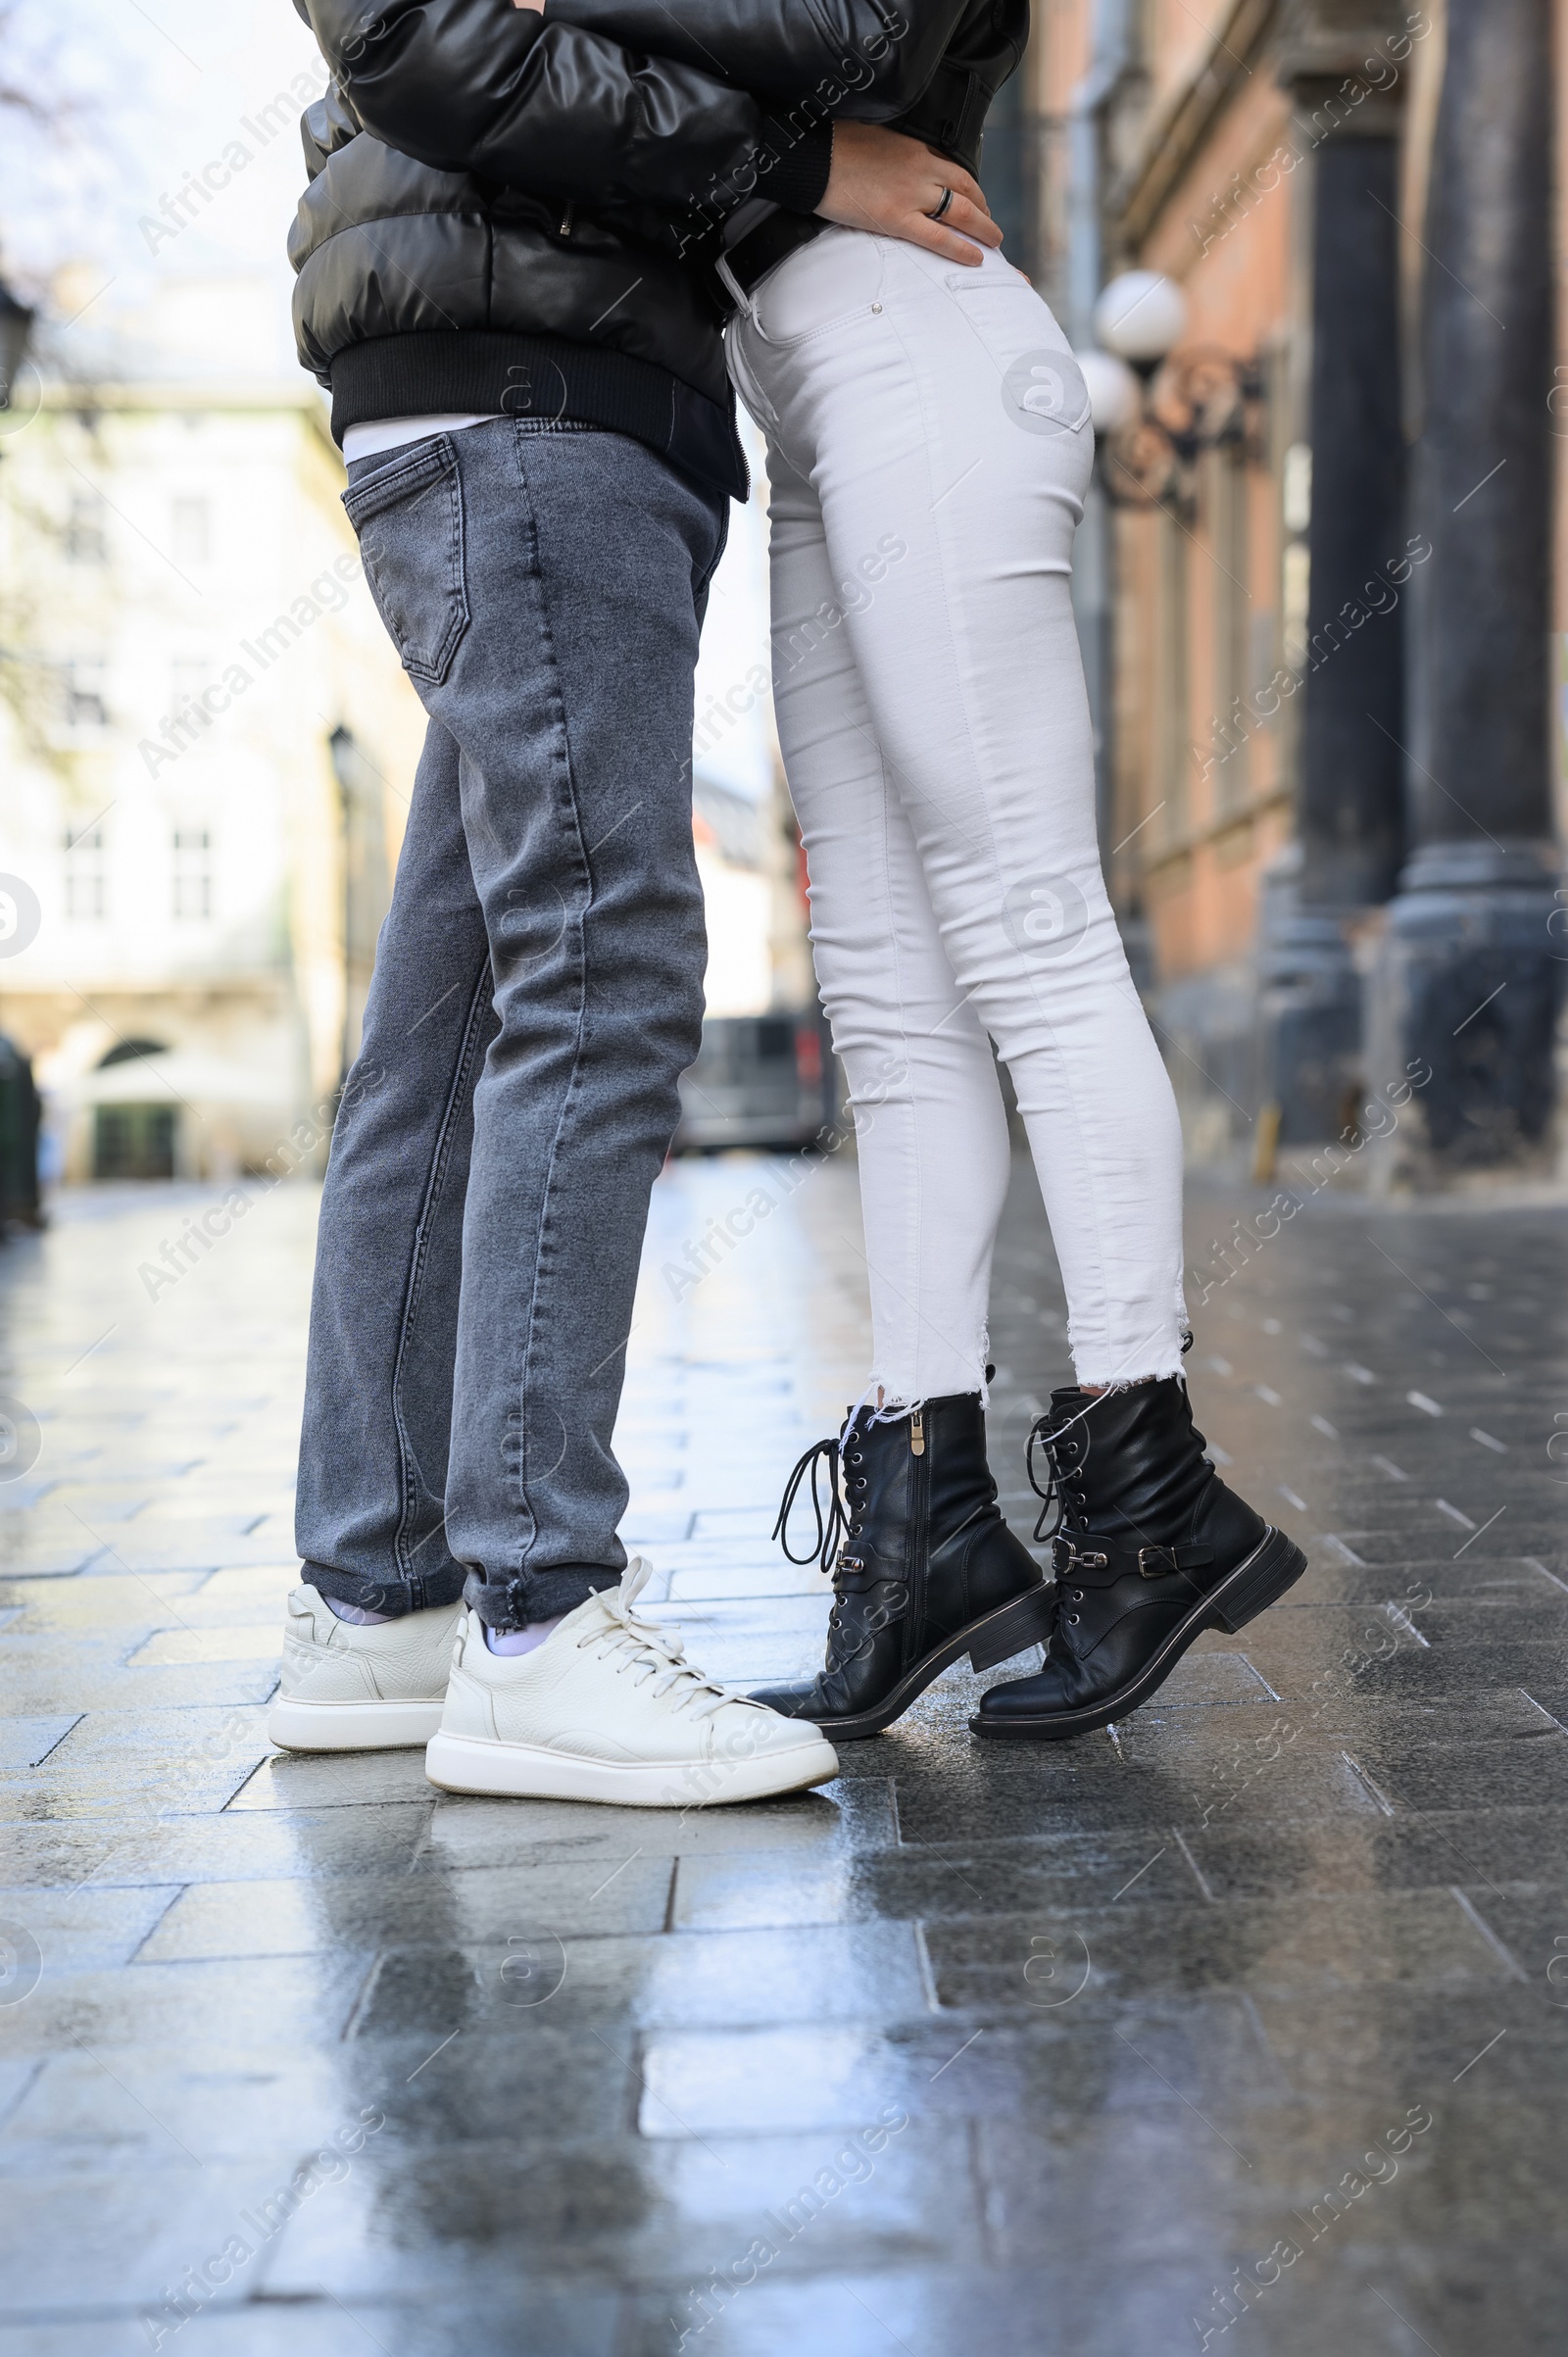
<path fill-rule="evenodd" d="M 479 1735 L 434 1735 L 424 1775 L 441 1791 L 500 1794 L 509 1801 L 606 1801 L 611 1808 L 724 1808 L 809 1791 L 839 1772 L 828 1742 L 736 1761 L 637 1765 L 502 1744 Z"/>

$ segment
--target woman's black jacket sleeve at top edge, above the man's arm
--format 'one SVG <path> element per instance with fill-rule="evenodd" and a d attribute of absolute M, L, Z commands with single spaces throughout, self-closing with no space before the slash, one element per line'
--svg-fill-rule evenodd
<path fill-rule="evenodd" d="M 526 0 L 533 5 L 533 0 Z M 936 73 L 967 0 L 549 0 L 575 24 L 651 49 L 771 106 L 849 101 L 861 123 L 905 113 Z"/>

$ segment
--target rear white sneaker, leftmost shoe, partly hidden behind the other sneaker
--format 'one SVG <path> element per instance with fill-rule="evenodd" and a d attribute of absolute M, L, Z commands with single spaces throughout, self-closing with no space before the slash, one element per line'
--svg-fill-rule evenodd
<path fill-rule="evenodd" d="M 285 1751 L 396 1751 L 441 1725 L 462 1605 L 394 1622 L 342 1622 L 316 1589 L 292 1589 L 283 1685 L 266 1732 Z"/>

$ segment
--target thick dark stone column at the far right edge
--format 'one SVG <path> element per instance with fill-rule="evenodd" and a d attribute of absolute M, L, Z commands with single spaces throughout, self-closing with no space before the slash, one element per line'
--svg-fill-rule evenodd
<path fill-rule="evenodd" d="M 1549 0 L 1448 0 L 1424 243 L 1410 858 L 1368 1082 L 1429 1065 L 1398 1162 L 1528 1160 L 1554 1101 Z M 1384 1070 L 1386 1065 L 1386 1070 Z M 1419 1110 L 1417 1110 L 1419 1108 Z"/>

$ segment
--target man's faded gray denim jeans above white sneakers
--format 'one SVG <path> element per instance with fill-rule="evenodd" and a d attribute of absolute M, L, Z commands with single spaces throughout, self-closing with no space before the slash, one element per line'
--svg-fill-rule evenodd
<path fill-rule="evenodd" d="M 625 1567 L 726 502 L 627 436 L 495 420 L 361 460 L 344 507 L 429 735 L 321 1204 L 297 1546 L 342 1603 L 507 1629 Z"/>

